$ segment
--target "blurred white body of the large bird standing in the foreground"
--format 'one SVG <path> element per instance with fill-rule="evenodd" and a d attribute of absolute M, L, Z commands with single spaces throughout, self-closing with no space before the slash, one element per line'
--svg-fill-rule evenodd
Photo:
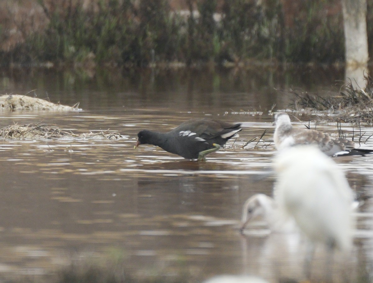
<path fill-rule="evenodd" d="M 275 199 L 279 208 L 313 243 L 350 251 L 354 194 L 342 170 L 313 146 L 280 152 L 275 169 Z"/>

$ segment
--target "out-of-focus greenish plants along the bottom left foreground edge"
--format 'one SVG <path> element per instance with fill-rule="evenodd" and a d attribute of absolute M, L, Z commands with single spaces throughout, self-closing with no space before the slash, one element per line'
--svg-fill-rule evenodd
<path fill-rule="evenodd" d="M 126 264 L 128 255 L 120 248 L 108 248 L 103 254 L 83 252 L 65 258 L 46 274 L 15 274 L 1 278 L 9 283 L 190 283 L 203 280 L 199 271 L 192 272 L 183 256 L 173 264 L 137 270 Z"/>

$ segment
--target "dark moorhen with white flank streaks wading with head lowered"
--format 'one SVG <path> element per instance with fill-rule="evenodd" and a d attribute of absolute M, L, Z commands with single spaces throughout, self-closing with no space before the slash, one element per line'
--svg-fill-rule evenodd
<path fill-rule="evenodd" d="M 203 160 L 206 154 L 220 149 L 232 137 L 237 137 L 241 130 L 241 124 L 192 119 L 168 133 L 140 131 L 135 148 L 140 144 L 153 144 L 186 159 Z"/>

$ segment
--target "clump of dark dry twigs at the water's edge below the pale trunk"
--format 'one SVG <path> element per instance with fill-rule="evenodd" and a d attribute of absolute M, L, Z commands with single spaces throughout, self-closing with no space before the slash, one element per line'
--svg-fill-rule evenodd
<path fill-rule="evenodd" d="M 354 88 L 351 81 L 346 82 L 336 96 L 323 97 L 308 93 L 294 93 L 297 97 L 297 110 L 325 114 L 325 118 L 338 122 L 373 124 L 373 81 L 364 76 L 367 86 Z M 330 115 L 332 114 L 332 115 Z"/>

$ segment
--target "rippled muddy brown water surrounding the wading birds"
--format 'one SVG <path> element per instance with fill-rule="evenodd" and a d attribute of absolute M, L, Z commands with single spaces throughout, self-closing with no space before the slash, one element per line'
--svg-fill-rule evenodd
<path fill-rule="evenodd" d="M 148 81 L 134 86 L 133 77 L 122 74 L 122 80 L 131 84 L 98 89 L 93 83 L 98 78 L 83 85 L 66 86 L 64 81 L 58 86 L 56 82 L 63 80 L 59 74 L 40 74 L 38 97 L 48 93 L 51 101 L 68 105 L 80 101 L 85 111 L 1 112 L 2 126 L 43 122 L 76 133 L 110 129 L 125 138 L 0 140 L 0 275 L 48 274 L 76 258 L 100 262 L 120 256 L 126 270 L 137 276 L 187 272 L 200 280 L 217 274 L 254 274 L 270 282 L 303 280 L 304 239 L 268 235 L 260 222 L 245 236 L 238 227 L 248 197 L 272 195 L 274 177 L 268 171 L 276 149 L 267 111 L 274 103 L 286 107 L 294 99 L 289 91 L 294 86 L 327 93 L 333 82 L 320 83 L 316 77 L 314 84 L 295 80 L 294 85 L 281 83 L 281 90 L 276 90 L 249 74 L 229 75 L 230 79 L 227 74 L 215 78 L 189 74 L 185 79 L 172 74 L 167 81 L 162 77 L 167 75 L 156 74 L 153 81 L 149 75 Z M 4 93 L 35 88 L 33 77 L 6 78 L 10 83 Z M 267 79 L 273 81 L 271 75 Z M 162 87 L 155 86 L 157 80 Z M 252 111 L 263 115 L 253 116 Z M 186 161 L 155 146 L 134 149 L 139 130 L 168 131 L 196 117 L 241 122 L 243 130 L 226 149 L 208 155 L 207 162 Z M 351 125 L 342 127 L 352 137 Z M 333 123 L 317 123 L 317 128 L 336 132 Z M 373 134 L 368 126 L 361 132 L 365 138 Z M 373 139 L 365 146 L 373 147 Z M 338 256 L 330 261 L 320 248 L 313 262 L 315 280 L 373 278 L 372 158 L 337 161 L 366 200 L 360 208 L 353 253 L 347 261 Z"/>

